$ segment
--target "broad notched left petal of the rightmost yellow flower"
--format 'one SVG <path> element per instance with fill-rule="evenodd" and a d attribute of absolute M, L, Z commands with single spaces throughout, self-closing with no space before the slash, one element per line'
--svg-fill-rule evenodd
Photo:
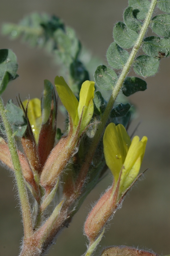
<path fill-rule="evenodd" d="M 131 143 L 130 137 L 122 124 L 118 127 L 110 123 L 104 132 L 104 157 L 106 164 L 111 170 L 115 182 L 119 178 L 119 174 L 126 157 L 129 145 Z"/>

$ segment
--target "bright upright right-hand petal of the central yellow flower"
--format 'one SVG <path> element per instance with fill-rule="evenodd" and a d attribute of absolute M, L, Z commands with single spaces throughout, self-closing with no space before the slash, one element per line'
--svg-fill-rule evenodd
<path fill-rule="evenodd" d="M 80 133 L 86 128 L 89 124 L 92 116 L 93 116 L 93 98 L 94 98 L 94 91 L 95 91 L 95 82 L 93 81 L 85 81 L 80 90 L 80 100 L 78 105 L 78 117 L 81 118 L 81 128 Z"/>

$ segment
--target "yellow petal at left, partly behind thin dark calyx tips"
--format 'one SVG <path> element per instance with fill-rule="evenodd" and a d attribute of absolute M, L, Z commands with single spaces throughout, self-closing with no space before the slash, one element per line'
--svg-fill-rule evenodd
<path fill-rule="evenodd" d="M 28 102 L 28 100 L 24 100 L 22 102 L 25 109 L 27 106 L 27 102 Z M 28 116 L 29 122 L 31 124 L 32 130 L 35 134 L 35 140 L 38 141 L 41 124 L 42 124 L 41 100 L 39 100 L 38 98 L 29 100 L 27 116 Z"/>

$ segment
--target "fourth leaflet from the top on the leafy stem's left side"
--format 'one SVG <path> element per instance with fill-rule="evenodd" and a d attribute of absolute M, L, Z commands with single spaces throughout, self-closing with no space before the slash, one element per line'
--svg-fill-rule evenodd
<path fill-rule="evenodd" d="M 113 42 L 107 50 L 107 61 L 112 68 L 121 69 L 126 64 L 129 54 L 116 42 Z"/>

